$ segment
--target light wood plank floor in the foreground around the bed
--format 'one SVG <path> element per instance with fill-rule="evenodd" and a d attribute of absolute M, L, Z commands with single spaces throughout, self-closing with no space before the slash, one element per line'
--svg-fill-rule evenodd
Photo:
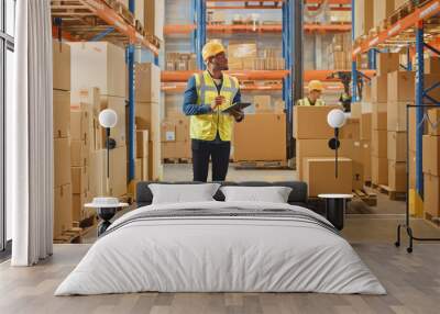
<path fill-rule="evenodd" d="M 316 293 L 138 293 L 53 296 L 89 245 L 56 245 L 50 260 L 33 268 L 0 265 L 0 313 L 439 313 L 438 245 L 413 255 L 391 245 L 353 245 L 387 289 L 384 296 Z"/>

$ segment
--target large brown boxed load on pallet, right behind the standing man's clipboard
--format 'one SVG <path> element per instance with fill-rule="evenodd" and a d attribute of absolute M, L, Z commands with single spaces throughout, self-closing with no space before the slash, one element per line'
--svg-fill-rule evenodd
<path fill-rule="evenodd" d="M 233 160 L 242 168 L 286 167 L 286 115 L 284 102 L 254 96 L 254 113 L 234 124 Z M 264 147 L 264 149 L 262 149 Z"/>

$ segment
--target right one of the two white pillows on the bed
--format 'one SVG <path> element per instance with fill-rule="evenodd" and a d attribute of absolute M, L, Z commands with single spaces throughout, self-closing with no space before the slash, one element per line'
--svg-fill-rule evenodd
<path fill-rule="evenodd" d="M 292 188 L 287 187 L 222 187 L 227 202 L 271 202 L 287 203 Z"/>

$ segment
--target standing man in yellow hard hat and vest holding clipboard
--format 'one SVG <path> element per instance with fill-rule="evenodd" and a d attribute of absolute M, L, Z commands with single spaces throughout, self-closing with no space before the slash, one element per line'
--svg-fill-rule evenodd
<path fill-rule="evenodd" d="M 207 70 L 188 80 L 184 99 L 184 112 L 190 115 L 194 181 L 207 181 L 209 157 L 212 181 L 224 181 L 233 122 L 241 122 L 244 114 L 241 110 L 231 113 L 222 110 L 241 101 L 239 81 L 223 74 L 228 70 L 228 58 L 220 43 L 207 43 L 201 55 Z"/>

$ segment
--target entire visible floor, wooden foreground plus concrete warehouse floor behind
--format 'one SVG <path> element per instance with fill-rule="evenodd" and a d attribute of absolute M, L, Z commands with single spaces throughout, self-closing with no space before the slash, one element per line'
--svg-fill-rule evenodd
<path fill-rule="evenodd" d="M 168 165 L 167 165 L 168 166 Z M 190 165 L 189 165 L 190 166 Z M 190 167 L 168 166 L 166 179 L 190 179 Z M 231 170 L 230 180 L 293 180 L 292 171 Z M 169 177 L 172 176 L 172 177 Z M 378 195 L 377 208 L 358 204 L 343 236 L 386 288 L 388 294 L 332 295 L 317 293 L 136 293 L 98 296 L 53 296 L 95 242 L 91 232 L 84 245 L 55 245 L 54 256 L 32 268 L 0 265 L 0 313 L 150 313 L 150 314 L 287 314 L 287 313 L 440 313 L 440 244 L 394 247 L 396 225 L 405 203 Z M 440 237 L 440 228 L 413 221 L 416 235 Z"/>

